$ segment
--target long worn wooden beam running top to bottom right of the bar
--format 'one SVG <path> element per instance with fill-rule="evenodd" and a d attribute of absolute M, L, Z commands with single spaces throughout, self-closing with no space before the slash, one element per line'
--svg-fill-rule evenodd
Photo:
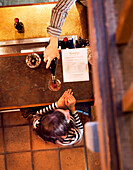
<path fill-rule="evenodd" d="M 115 46 L 114 6 L 112 0 L 89 0 L 88 6 L 101 164 L 102 169 L 119 170 L 121 160 L 116 120 L 122 110 L 123 87 Z"/>

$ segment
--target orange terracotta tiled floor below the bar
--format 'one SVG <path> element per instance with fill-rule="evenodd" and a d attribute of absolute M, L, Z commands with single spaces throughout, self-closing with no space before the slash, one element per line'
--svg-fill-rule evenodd
<path fill-rule="evenodd" d="M 88 116 L 81 115 L 83 123 Z M 99 154 L 85 147 L 45 143 L 20 112 L 0 113 L 0 170 L 100 170 Z"/>

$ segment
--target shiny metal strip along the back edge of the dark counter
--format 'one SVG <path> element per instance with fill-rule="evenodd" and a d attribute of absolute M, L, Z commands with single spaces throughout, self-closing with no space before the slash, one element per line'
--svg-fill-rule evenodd
<path fill-rule="evenodd" d="M 59 40 L 63 40 L 65 36 L 61 36 Z M 68 39 L 77 40 L 77 35 L 67 36 Z M 33 38 L 22 40 L 0 41 L 0 55 L 19 54 L 29 52 L 44 51 L 49 44 L 49 37 Z"/>

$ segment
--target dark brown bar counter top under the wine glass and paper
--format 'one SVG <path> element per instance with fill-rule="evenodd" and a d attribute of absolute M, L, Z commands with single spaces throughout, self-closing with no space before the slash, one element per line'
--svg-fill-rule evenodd
<path fill-rule="evenodd" d="M 49 69 L 45 68 L 43 54 L 39 67 L 31 69 L 26 64 L 27 54 L 0 57 L 0 110 L 17 109 L 47 105 L 55 102 L 67 89 L 72 89 L 77 102 L 93 101 L 93 86 L 89 81 L 63 83 L 62 60 L 58 60 L 56 77 L 61 81 L 57 92 L 48 89 L 51 79 Z"/>

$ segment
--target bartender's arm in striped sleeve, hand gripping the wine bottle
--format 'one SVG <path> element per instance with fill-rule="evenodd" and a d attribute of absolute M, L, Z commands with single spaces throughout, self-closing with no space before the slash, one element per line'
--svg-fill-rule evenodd
<path fill-rule="evenodd" d="M 67 17 L 68 11 L 76 0 L 58 0 L 56 6 L 52 9 L 50 26 L 47 27 L 47 32 L 50 35 L 50 43 L 44 51 L 44 62 L 46 68 L 49 68 L 51 61 L 57 57 L 60 58 L 58 51 L 58 38 L 61 34 L 61 28 Z"/>

